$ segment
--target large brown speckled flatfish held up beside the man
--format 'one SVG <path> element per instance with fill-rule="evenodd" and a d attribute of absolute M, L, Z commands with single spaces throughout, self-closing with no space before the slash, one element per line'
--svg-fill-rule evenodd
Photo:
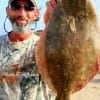
<path fill-rule="evenodd" d="M 96 12 L 90 0 L 60 0 L 36 50 L 38 69 L 57 93 L 70 100 L 98 71 L 95 35 Z"/>

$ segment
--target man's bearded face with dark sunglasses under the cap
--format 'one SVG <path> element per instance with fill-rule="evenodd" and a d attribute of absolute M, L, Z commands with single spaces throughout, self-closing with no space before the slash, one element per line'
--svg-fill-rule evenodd
<path fill-rule="evenodd" d="M 7 7 L 7 15 L 12 23 L 13 31 L 26 33 L 38 18 L 38 11 L 28 0 L 16 0 Z"/>

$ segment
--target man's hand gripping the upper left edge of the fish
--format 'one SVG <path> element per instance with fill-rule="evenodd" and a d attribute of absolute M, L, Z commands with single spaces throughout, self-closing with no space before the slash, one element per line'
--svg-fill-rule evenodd
<path fill-rule="evenodd" d="M 46 26 L 53 14 L 56 5 L 57 5 L 57 0 L 49 0 L 46 2 L 46 12 L 44 14 L 44 23 Z"/>

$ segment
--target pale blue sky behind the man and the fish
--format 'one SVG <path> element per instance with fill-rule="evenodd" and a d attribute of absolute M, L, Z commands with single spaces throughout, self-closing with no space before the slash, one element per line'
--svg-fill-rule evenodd
<path fill-rule="evenodd" d="M 41 10 L 40 10 L 40 20 L 37 23 L 36 30 L 41 30 L 44 28 L 43 15 L 44 15 L 44 12 L 46 9 L 46 7 L 45 7 L 46 1 L 47 0 L 37 0 L 38 8 L 41 8 Z M 92 2 L 95 6 L 98 18 L 100 19 L 100 0 L 92 0 Z M 4 20 L 6 18 L 6 6 L 7 6 L 7 4 L 8 4 L 8 0 L 0 0 L 0 35 L 6 34 L 6 32 L 4 31 L 4 28 L 3 28 L 3 24 L 4 24 Z M 100 23 L 99 23 L 99 25 L 100 25 Z M 33 25 L 33 27 L 34 27 L 34 25 Z M 6 29 L 8 31 L 11 30 L 11 25 L 10 25 L 8 19 L 6 21 Z M 36 30 L 34 30 L 34 31 L 36 31 Z"/>

